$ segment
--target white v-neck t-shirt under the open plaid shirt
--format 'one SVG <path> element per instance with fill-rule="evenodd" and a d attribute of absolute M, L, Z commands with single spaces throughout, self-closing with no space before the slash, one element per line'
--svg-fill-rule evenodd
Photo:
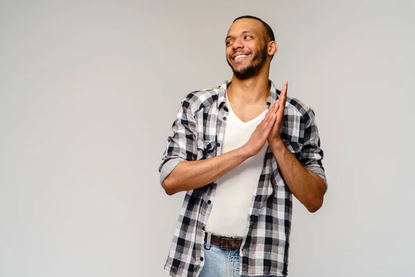
<path fill-rule="evenodd" d="M 244 145 L 268 111 L 265 109 L 256 118 L 244 123 L 232 111 L 228 94 L 226 94 L 226 105 L 229 108 L 229 114 L 223 136 L 222 153 Z M 230 170 L 217 181 L 212 211 L 205 227 L 206 231 L 231 237 L 245 235 L 249 209 L 264 167 L 267 148 L 268 143 L 265 143 L 264 148 L 257 155 L 243 161 L 237 168 Z"/>

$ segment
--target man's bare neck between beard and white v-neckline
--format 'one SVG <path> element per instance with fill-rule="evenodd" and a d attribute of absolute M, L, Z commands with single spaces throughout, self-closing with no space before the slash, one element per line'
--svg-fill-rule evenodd
<path fill-rule="evenodd" d="M 263 67 L 265 69 L 266 66 Z M 235 75 L 232 76 L 232 82 L 228 87 L 228 98 L 237 100 L 243 105 L 252 105 L 259 102 L 266 102 L 270 94 L 269 69 L 259 71 L 259 74 L 241 80 Z"/>

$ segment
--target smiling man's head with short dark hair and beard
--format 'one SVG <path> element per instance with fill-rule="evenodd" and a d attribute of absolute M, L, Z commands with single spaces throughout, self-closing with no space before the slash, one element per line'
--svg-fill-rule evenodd
<path fill-rule="evenodd" d="M 226 60 L 234 75 L 242 80 L 258 75 L 269 67 L 277 44 L 273 30 L 257 17 L 244 15 L 235 19 L 225 39 Z"/>

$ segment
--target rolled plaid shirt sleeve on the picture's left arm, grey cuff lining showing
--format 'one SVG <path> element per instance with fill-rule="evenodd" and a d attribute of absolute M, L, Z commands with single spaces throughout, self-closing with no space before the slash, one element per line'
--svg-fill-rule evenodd
<path fill-rule="evenodd" d="M 188 98 L 181 102 L 176 120 L 172 125 L 173 135 L 167 139 L 160 172 L 160 184 L 181 161 L 194 161 L 197 158 L 196 122 Z"/>

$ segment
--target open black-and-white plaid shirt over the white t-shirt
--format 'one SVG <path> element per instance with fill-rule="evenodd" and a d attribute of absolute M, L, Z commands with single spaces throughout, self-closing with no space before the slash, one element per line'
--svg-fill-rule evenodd
<path fill-rule="evenodd" d="M 173 123 L 173 136 L 168 138 L 159 168 L 160 183 L 181 161 L 209 159 L 221 154 L 228 116 L 225 104 L 228 84 L 230 80 L 216 89 L 194 91 L 182 101 Z M 273 82 L 270 81 L 270 85 L 268 109 L 281 92 Z M 287 97 L 281 137 L 300 163 L 320 175 L 326 183 L 313 110 L 299 100 Z M 214 204 L 215 190 L 216 181 L 187 191 L 165 264 L 165 271 L 170 276 L 199 276 L 204 264 L 204 229 Z M 240 274 L 286 275 L 292 194 L 269 146 L 252 200 L 240 250 Z"/>

